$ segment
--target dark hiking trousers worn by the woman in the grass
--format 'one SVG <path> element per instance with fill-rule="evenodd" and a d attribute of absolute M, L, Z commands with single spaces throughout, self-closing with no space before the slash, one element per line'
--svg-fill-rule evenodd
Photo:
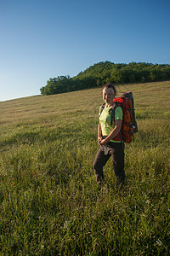
<path fill-rule="evenodd" d="M 96 154 L 94 160 L 94 173 L 96 176 L 97 183 L 101 183 L 104 179 L 103 167 L 106 162 L 110 159 L 113 162 L 114 171 L 116 175 L 116 185 L 124 183 L 125 172 L 124 172 L 124 144 L 123 143 L 108 143 L 108 154 L 105 154 L 104 146 L 99 147 L 99 151 Z"/>

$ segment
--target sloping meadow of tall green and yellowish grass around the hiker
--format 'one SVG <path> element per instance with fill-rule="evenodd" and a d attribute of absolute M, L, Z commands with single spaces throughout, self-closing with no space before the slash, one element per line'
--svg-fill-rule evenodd
<path fill-rule="evenodd" d="M 93 162 L 101 88 L 0 102 L 0 255 L 168 255 L 170 81 L 127 84 L 126 184 Z"/>

